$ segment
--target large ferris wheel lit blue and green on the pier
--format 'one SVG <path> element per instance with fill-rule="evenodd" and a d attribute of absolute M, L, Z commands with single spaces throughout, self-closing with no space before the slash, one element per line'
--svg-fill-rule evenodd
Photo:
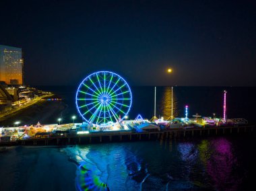
<path fill-rule="evenodd" d="M 107 124 L 123 120 L 131 108 L 128 83 L 116 73 L 98 71 L 80 83 L 75 103 L 79 114 L 89 124 Z"/>

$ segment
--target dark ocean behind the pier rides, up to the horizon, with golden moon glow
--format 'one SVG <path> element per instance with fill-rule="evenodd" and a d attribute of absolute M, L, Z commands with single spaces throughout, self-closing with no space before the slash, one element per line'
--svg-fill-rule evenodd
<path fill-rule="evenodd" d="M 73 86 L 42 86 L 45 91 L 53 91 L 64 99 L 67 108 L 56 118 L 63 122 L 71 122 L 71 116 L 77 116 L 77 122 L 82 121 L 75 106 L 77 87 Z M 250 123 L 256 123 L 256 87 L 173 87 L 174 116 L 185 116 L 185 105 L 189 106 L 189 117 L 198 113 L 201 116 L 223 117 L 223 91 L 226 90 L 227 118 L 245 118 Z M 128 114 L 134 119 L 137 114 L 143 118 L 154 116 L 154 87 L 131 87 L 133 102 Z M 171 87 L 156 87 L 156 116 L 168 118 L 171 111 Z"/>

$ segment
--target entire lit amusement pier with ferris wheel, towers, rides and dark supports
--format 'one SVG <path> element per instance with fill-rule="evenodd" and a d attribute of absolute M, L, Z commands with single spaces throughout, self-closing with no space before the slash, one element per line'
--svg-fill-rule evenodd
<path fill-rule="evenodd" d="M 252 134 L 255 125 L 243 118 L 226 118 L 226 91 L 223 91 L 222 118 L 189 117 L 189 105 L 184 116 L 156 117 L 156 87 L 154 117 L 150 120 L 137 115 L 127 120 L 132 104 L 128 83 L 113 72 L 99 71 L 86 77 L 77 88 L 75 105 L 82 122 L 34 125 L 15 122 L 13 127 L 0 126 L 0 145 L 75 145 L 113 141 L 146 141 L 188 139 L 192 137 Z M 171 94 L 172 96 L 172 94 Z"/>

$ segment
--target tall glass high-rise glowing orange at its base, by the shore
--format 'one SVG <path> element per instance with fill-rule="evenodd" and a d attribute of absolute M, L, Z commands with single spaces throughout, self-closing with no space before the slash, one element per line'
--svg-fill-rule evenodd
<path fill-rule="evenodd" d="M 23 84 L 22 48 L 0 45 L 0 81 L 9 85 Z"/>

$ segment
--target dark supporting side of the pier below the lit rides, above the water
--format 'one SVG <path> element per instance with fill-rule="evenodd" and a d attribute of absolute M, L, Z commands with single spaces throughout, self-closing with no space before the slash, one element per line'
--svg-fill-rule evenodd
<path fill-rule="evenodd" d="M 241 126 L 213 126 L 205 128 L 170 128 L 160 131 L 135 130 L 90 132 L 84 135 L 67 134 L 63 136 L 51 136 L 49 138 L 23 139 L 16 141 L 0 142 L 1 145 L 75 145 L 90 143 L 109 143 L 121 141 L 146 141 L 157 139 L 187 139 L 192 137 L 218 136 L 218 135 L 253 135 L 255 125 Z"/>

